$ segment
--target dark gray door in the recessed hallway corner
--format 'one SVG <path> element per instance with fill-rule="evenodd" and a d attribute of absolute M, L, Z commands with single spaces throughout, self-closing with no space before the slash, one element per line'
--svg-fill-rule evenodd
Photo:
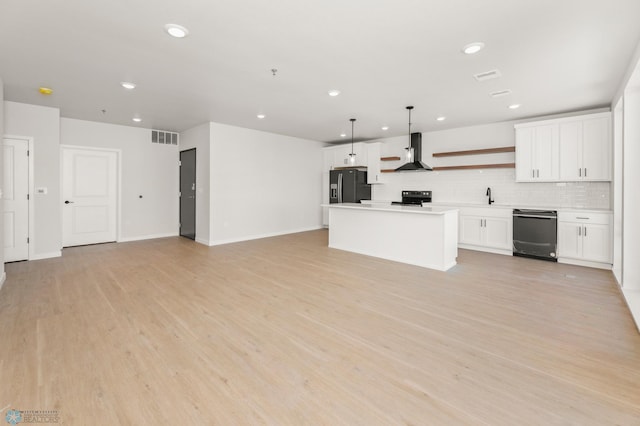
<path fill-rule="evenodd" d="M 180 235 L 196 239 L 196 149 L 180 151 Z"/>

